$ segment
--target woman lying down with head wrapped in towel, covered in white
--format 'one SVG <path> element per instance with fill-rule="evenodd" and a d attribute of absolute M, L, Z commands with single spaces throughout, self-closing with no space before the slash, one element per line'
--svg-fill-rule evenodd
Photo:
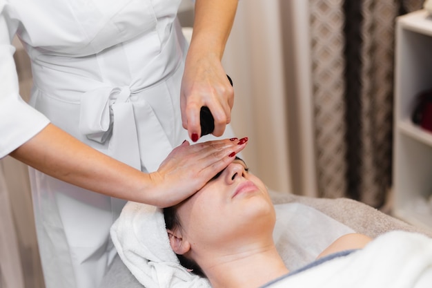
<path fill-rule="evenodd" d="M 432 239 L 349 233 L 289 271 L 273 241 L 266 186 L 237 158 L 193 196 L 162 211 L 129 202 L 111 229 L 120 258 L 153 287 L 432 287 Z M 181 263 L 181 264 L 180 264 Z"/>

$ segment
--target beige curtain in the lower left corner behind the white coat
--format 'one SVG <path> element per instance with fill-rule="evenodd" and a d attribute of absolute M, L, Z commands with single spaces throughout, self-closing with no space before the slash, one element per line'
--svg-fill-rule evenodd
<path fill-rule="evenodd" d="M 34 221 L 27 166 L 5 157 L 0 160 L 1 288 L 45 287 Z"/>

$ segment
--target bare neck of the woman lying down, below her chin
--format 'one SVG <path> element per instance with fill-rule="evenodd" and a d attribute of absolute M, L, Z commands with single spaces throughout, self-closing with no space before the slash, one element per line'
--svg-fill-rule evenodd
<path fill-rule="evenodd" d="M 213 258 L 204 269 L 213 288 L 253 288 L 288 273 L 274 245 Z"/>

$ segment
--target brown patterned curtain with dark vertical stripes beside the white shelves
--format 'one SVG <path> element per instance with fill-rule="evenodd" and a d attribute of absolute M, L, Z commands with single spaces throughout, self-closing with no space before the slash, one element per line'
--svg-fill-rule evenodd
<path fill-rule="evenodd" d="M 395 17 L 422 3 L 309 0 L 318 195 L 386 201 Z"/>

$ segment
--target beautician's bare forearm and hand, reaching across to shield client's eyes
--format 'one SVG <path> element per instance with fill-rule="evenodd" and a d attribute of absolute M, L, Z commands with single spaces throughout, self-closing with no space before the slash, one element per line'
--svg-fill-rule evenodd
<path fill-rule="evenodd" d="M 79 142 L 48 124 L 10 155 L 65 182 L 116 198 L 158 207 L 177 204 L 222 171 L 245 144 L 217 140 L 184 142 L 168 155 L 155 173 L 142 173 Z M 231 157 L 229 155 L 231 154 Z"/>

